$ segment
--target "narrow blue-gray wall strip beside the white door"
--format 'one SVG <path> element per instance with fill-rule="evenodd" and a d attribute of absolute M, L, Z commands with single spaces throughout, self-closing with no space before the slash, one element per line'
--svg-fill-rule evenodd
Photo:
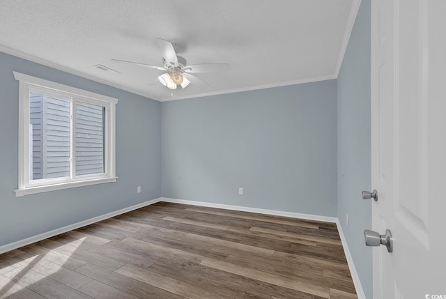
<path fill-rule="evenodd" d="M 362 0 L 337 79 L 337 215 L 367 298 L 372 298 L 370 162 L 370 0 Z M 346 215 L 348 214 L 348 226 Z"/>

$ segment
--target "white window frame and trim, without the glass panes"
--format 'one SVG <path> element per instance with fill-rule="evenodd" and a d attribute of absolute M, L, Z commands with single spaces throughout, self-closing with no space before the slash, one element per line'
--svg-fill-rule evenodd
<path fill-rule="evenodd" d="M 116 182 L 116 112 L 118 99 L 106 95 L 76 89 L 56 82 L 38 77 L 13 72 L 14 78 L 19 81 L 19 179 L 15 196 L 48 192 L 95 185 L 100 183 Z M 60 98 L 69 98 L 71 107 L 75 103 L 86 103 L 105 107 L 105 172 L 101 174 L 86 174 L 75 176 L 75 113 L 71 108 L 70 132 L 70 176 L 63 178 L 46 178 L 29 180 L 30 149 L 29 149 L 29 93 L 44 93 Z"/>

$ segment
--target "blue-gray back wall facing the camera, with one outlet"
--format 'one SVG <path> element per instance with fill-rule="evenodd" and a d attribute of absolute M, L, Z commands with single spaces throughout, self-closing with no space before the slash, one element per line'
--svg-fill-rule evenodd
<path fill-rule="evenodd" d="M 336 84 L 162 102 L 162 196 L 336 216 Z"/>

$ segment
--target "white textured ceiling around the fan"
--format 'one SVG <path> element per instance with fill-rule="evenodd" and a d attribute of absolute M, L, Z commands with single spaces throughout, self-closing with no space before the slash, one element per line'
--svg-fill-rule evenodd
<path fill-rule="evenodd" d="M 177 99 L 337 77 L 359 0 L 0 0 L 0 51 L 155 100 L 171 91 L 156 38 L 177 43 L 188 64 L 229 63 L 197 74 L 209 85 Z M 112 70 L 93 66 L 102 64 Z"/>

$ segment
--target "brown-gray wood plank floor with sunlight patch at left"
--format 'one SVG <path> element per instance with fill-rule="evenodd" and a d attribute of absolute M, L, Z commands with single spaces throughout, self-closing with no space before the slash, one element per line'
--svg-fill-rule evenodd
<path fill-rule="evenodd" d="M 0 255 L 0 298 L 357 298 L 336 224 L 158 203 Z"/>

